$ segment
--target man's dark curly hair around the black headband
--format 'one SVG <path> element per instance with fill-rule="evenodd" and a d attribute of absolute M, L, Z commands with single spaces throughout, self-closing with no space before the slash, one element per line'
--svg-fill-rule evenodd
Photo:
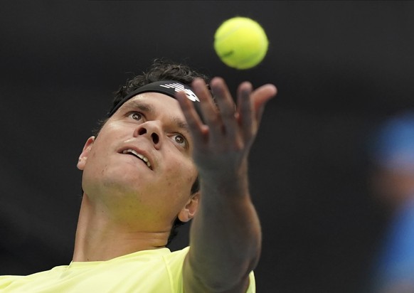
<path fill-rule="evenodd" d="M 120 86 L 120 88 L 114 92 L 114 100 L 112 101 L 111 110 L 116 107 L 124 97 L 129 95 L 130 92 L 149 83 L 161 80 L 176 80 L 191 86 L 191 82 L 196 78 L 202 78 L 207 84 L 210 81 L 210 78 L 207 75 L 193 70 L 189 65 L 175 63 L 166 59 L 155 59 L 146 72 L 143 72 L 142 75 L 135 76 L 132 80 L 127 80 L 125 85 Z M 106 120 L 100 122 L 100 128 L 105 122 Z M 191 194 L 196 193 L 199 190 L 200 180 L 197 177 L 193 186 L 191 186 Z M 171 240 L 178 234 L 178 228 L 183 224 L 184 223 L 181 222 L 178 217 L 174 219 L 166 245 L 171 243 Z"/>

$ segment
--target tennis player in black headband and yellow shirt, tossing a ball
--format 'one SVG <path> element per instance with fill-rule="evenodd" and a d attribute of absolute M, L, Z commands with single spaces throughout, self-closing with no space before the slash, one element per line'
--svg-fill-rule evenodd
<path fill-rule="evenodd" d="M 79 157 L 73 262 L 0 277 L 0 292 L 255 292 L 248 153 L 276 88 L 243 82 L 235 107 L 221 78 L 209 85 L 216 103 L 202 78 L 156 62 L 117 92 Z M 174 223 L 192 218 L 190 247 L 170 252 Z"/>

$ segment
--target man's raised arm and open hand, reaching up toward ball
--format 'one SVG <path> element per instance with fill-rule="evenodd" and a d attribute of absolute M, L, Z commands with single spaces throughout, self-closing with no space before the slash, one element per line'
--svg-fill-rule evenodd
<path fill-rule="evenodd" d="M 260 256 L 261 230 L 248 188 L 248 154 L 274 85 L 238 87 L 237 107 L 221 78 L 211 80 L 218 109 L 203 80 L 193 82 L 203 120 L 181 93 L 201 177 L 201 201 L 184 262 L 185 292 L 245 292 Z"/>

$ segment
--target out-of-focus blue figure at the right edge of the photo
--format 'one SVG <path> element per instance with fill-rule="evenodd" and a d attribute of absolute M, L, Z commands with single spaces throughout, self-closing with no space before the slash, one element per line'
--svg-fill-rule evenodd
<path fill-rule="evenodd" d="M 374 137 L 373 161 L 381 169 L 391 171 L 388 176 L 404 176 L 409 183 L 401 186 L 402 181 L 393 181 L 393 196 L 404 200 L 393 211 L 374 264 L 373 292 L 414 292 L 414 113 L 405 112 L 389 119 Z"/>

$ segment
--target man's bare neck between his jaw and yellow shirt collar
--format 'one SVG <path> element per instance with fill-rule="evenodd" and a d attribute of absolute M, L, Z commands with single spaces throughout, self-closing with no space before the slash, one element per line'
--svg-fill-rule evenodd
<path fill-rule="evenodd" d="M 165 247 L 169 230 L 148 232 L 114 220 L 84 193 L 75 236 L 73 261 L 111 260 L 141 250 Z"/>

